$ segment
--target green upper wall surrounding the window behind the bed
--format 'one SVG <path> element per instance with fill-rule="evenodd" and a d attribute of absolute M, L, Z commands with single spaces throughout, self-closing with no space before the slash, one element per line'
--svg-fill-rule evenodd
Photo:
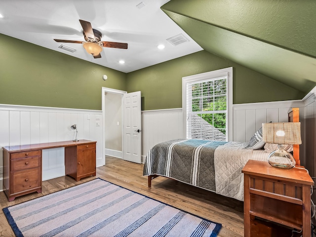
<path fill-rule="evenodd" d="M 304 93 L 230 60 L 200 51 L 127 74 L 128 92 L 140 90 L 143 110 L 182 107 L 182 77 L 233 67 L 233 103 L 302 99 Z"/>

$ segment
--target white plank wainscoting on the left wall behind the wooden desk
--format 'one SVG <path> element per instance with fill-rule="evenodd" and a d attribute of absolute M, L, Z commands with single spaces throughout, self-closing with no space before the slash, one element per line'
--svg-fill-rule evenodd
<path fill-rule="evenodd" d="M 102 121 L 101 111 L 0 104 L 0 167 L 2 147 L 73 140 L 76 136 L 76 131 L 70 128 L 73 124 L 77 124 L 79 140 L 97 141 L 97 166 L 104 165 L 102 124 L 96 126 L 96 121 Z M 43 150 L 42 179 L 65 175 L 64 159 L 64 148 Z M 0 181 L 2 178 L 0 174 Z"/>

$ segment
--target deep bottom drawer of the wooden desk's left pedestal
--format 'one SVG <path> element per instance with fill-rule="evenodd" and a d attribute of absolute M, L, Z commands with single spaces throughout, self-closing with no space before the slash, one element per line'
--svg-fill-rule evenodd
<path fill-rule="evenodd" d="M 11 173 L 11 188 L 13 194 L 39 188 L 40 167 Z"/>

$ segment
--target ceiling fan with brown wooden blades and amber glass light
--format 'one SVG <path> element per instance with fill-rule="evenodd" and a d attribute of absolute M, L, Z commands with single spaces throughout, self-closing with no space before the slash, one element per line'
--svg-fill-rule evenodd
<path fill-rule="evenodd" d="M 119 42 L 110 42 L 110 41 L 100 41 L 102 38 L 102 34 L 100 31 L 92 28 L 91 23 L 84 20 L 79 20 L 82 29 L 84 41 L 77 40 L 57 40 L 56 42 L 64 42 L 64 43 L 83 43 L 84 49 L 92 54 L 94 58 L 101 58 L 102 47 L 108 48 L 122 48 L 127 49 L 127 43 L 119 43 Z"/>

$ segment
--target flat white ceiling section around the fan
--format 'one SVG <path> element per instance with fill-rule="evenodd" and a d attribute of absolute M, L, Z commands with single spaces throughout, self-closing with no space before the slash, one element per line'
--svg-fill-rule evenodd
<path fill-rule="evenodd" d="M 128 73 L 202 50 L 160 9 L 168 1 L 1 0 L 0 14 L 4 17 L 0 19 L 0 33 Z M 138 8 L 141 2 L 145 6 Z M 82 44 L 53 40 L 84 41 L 79 19 L 99 30 L 102 41 L 125 42 L 128 49 L 103 47 L 102 58 L 94 59 Z M 189 42 L 173 46 L 166 41 L 181 33 Z M 60 49 L 60 44 L 77 51 Z M 158 44 L 165 48 L 158 49 Z"/>

